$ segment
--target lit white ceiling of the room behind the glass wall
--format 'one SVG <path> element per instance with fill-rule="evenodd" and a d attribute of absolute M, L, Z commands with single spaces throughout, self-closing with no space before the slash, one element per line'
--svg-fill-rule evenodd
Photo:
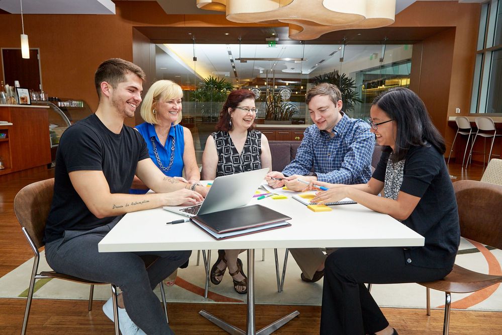
<path fill-rule="evenodd" d="M 377 58 L 381 53 L 381 45 L 347 45 L 345 47 L 344 62 L 340 62 L 341 45 L 277 45 L 269 48 L 263 44 L 163 44 L 158 45 L 156 57 L 157 79 L 171 79 L 185 85 L 198 83 L 201 78 L 210 75 L 225 77 L 228 81 L 244 83 L 256 77 L 275 76 L 285 81 L 298 78 L 313 77 L 325 72 L 338 69 L 341 72 L 351 71 L 360 64 L 361 68 L 378 66 Z M 392 51 L 401 48 L 399 45 L 388 45 L 385 50 L 385 64 L 396 61 L 399 55 L 392 56 Z M 193 53 L 197 61 L 192 60 Z M 229 55 L 230 52 L 230 55 Z M 410 49 L 411 52 L 411 49 Z M 411 53 L 410 53 L 411 55 Z M 232 56 L 232 58 L 230 58 Z M 406 56 L 406 55 L 405 55 Z M 240 62 L 236 58 L 304 58 L 303 62 L 249 60 Z M 324 59 L 324 61 L 323 61 Z M 232 60 L 239 81 L 237 82 L 232 67 Z M 398 59 L 400 60 L 400 59 Z M 300 74 L 301 73 L 301 74 Z M 176 79 L 179 78 L 179 79 Z M 179 80 L 179 81 L 178 81 Z"/>

